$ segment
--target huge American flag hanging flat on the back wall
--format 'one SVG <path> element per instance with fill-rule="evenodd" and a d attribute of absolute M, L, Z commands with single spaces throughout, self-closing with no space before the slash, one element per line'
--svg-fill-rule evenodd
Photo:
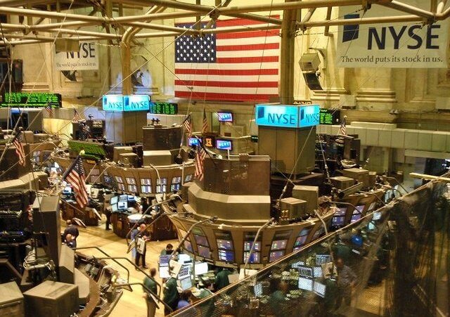
<path fill-rule="evenodd" d="M 217 20 L 215 26 L 260 23 L 231 19 Z M 278 33 L 259 30 L 179 37 L 175 42 L 175 96 L 211 101 L 268 101 L 278 96 Z"/>

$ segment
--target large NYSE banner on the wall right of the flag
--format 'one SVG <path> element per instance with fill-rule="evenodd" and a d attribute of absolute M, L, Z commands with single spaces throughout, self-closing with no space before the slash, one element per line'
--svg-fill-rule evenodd
<path fill-rule="evenodd" d="M 429 10 L 429 2 L 405 0 L 411 6 Z M 344 19 L 406 15 L 378 6 L 364 12 L 359 6 L 342 6 Z M 432 25 L 396 22 L 374 25 L 340 25 L 336 63 L 338 67 L 446 68 L 449 61 L 449 19 Z"/>

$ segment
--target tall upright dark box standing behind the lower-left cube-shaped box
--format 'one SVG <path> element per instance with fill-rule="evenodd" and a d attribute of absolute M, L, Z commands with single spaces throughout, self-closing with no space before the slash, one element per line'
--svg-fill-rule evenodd
<path fill-rule="evenodd" d="M 61 249 L 59 197 L 37 197 L 33 209 L 33 231 L 42 233 L 42 246 L 47 256 L 58 266 Z"/>

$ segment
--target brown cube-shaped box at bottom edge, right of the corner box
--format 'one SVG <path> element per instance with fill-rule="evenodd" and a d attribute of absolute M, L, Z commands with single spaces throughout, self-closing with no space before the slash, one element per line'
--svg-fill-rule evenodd
<path fill-rule="evenodd" d="M 70 317 L 79 310 L 77 285 L 45 280 L 23 295 L 27 317 Z"/>

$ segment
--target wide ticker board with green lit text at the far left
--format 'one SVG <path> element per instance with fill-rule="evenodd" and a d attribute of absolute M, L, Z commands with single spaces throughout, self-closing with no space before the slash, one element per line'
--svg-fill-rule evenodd
<path fill-rule="evenodd" d="M 4 93 L 1 107 L 41 108 L 50 105 L 51 108 L 61 108 L 59 93 Z"/>

